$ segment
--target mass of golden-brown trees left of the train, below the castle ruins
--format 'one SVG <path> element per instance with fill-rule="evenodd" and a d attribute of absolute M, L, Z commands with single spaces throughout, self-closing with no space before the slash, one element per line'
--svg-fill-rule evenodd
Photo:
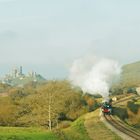
<path fill-rule="evenodd" d="M 83 95 L 67 80 L 30 83 L 23 88 L 11 87 L 7 92 L 7 97 L 0 97 L 1 126 L 52 129 L 61 121 L 74 121 L 98 107 L 93 96 Z"/>

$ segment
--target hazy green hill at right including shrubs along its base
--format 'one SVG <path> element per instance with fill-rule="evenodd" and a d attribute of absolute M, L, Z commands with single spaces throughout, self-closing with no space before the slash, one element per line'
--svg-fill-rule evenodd
<path fill-rule="evenodd" d="M 120 81 L 112 85 L 110 93 L 137 93 L 137 87 L 140 87 L 140 61 L 122 66 Z"/>

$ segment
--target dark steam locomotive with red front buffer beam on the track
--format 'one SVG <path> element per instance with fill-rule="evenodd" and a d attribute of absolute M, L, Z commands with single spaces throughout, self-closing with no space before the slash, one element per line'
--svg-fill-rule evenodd
<path fill-rule="evenodd" d="M 112 99 L 104 100 L 101 105 L 101 111 L 103 114 L 112 114 Z"/>

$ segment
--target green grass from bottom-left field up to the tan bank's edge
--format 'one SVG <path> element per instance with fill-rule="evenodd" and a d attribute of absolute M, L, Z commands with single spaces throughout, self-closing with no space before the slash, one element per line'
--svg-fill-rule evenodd
<path fill-rule="evenodd" d="M 0 140 L 90 140 L 84 119 L 77 119 L 63 130 L 52 132 L 43 128 L 0 127 Z"/>

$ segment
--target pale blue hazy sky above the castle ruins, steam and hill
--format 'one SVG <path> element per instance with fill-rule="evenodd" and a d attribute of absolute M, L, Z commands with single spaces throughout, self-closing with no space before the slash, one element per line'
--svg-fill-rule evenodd
<path fill-rule="evenodd" d="M 0 75 L 23 66 L 63 79 L 72 62 L 97 55 L 140 60 L 139 0 L 0 0 Z"/>

